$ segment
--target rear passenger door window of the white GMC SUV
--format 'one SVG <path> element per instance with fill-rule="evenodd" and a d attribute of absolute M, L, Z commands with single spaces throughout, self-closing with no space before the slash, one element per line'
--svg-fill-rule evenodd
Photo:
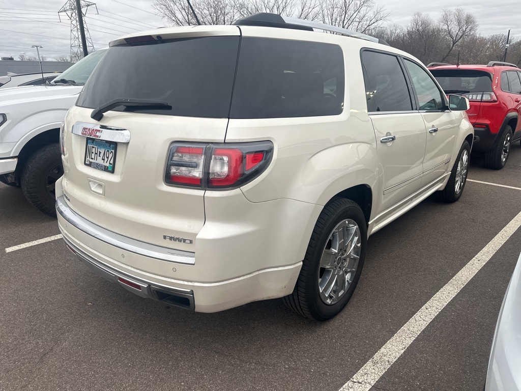
<path fill-rule="evenodd" d="M 397 57 L 365 51 L 362 61 L 369 112 L 412 110 L 411 96 Z"/>

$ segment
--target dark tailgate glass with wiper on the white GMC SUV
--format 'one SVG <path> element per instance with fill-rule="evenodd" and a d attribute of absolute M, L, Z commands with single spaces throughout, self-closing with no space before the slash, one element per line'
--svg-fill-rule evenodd
<path fill-rule="evenodd" d="M 147 99 L 166 101 L 172 109 L 141 108 L 142 113 L 228 117 L 239 37 L 155 42 L 110 47 L 77 105 L 95 108 L 118 98 Z"/>

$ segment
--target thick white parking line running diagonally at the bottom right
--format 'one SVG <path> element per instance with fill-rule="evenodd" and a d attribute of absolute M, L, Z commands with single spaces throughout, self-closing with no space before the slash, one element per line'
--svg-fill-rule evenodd
<path fill-rule="evenodd" d="M 424 331 L 425 327 L 462 290 L 472 277 L 485 265 L 492 255 L 521 226 L 521 212 L 496 235 L 460 272 L 458 272 L 425 306 L 405 323 L 398 333 L 351 378 L 340 391 L 368 391 L 378 379 L 398 360 L 402 353 Z"/>

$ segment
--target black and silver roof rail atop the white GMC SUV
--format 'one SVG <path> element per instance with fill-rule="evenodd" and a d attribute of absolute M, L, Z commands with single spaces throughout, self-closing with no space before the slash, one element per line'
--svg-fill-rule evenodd
<path fill-rule="evenodd" d="M 278 14 L 260 13 L 251 16 L 247 16 L 242 19 L 235 20 L 233 22 L 235 26 L 263 26 L 263 27 L 279 27 L 283 29 L 296 29 L 314 31 L 313 29 L 325 30 L 334 32 L 337 34 L 351 36 L 353 38 L 359 38 L 371 42 L 381 43 L 389 46 L 389 44 L 381 39 L 375 38 L 374 36 L 362 34 L 356 31 L 343 29 L 341 27 L 326 25 L 325 23 L 314 22 L 312 20 L 304 20 L 297 18 L 290 18 L 287 16 L 281 16 Z"/>

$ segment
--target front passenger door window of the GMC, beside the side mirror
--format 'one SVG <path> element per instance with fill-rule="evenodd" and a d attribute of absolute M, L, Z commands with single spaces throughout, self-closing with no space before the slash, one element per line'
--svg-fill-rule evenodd
<path fill-rule="evenodd" d="M 407 59 L 404 59 L 404 64 L 411 75 L 414 90 L 418 96 L 419 109 L 442 110 L 445 108 L 445 100 L 429 74 L 419 65 Z"/>

